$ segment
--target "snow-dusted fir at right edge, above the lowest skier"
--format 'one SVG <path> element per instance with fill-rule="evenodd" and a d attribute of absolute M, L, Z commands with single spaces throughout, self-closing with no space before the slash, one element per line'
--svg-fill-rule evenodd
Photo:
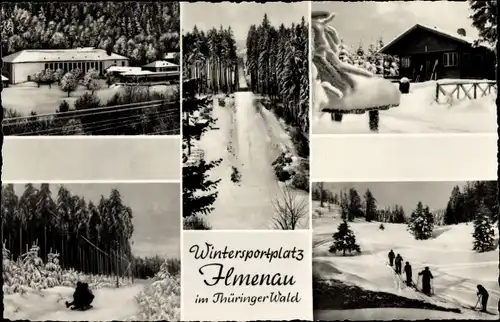
<path fill-rule="evenodd" d="M 490 221 L 488 208 L 483 202 L 479 205 L 474 219 L 473 250 L 479 253 L 495 250 L 495 231 Z"/>

